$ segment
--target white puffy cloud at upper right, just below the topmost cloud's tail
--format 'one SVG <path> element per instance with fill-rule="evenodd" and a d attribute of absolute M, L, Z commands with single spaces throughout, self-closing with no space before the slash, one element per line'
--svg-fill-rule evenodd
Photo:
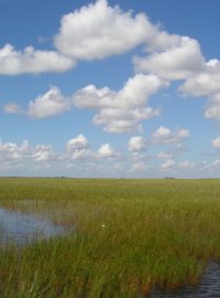
<path fill-rule="evenodd" d="M 179 38 L 178 44 L 146 57 L 133 60 L 138 72 L 156 74 L 167 81 L 185 79 L 204 68 L 204 57 L 196 40 Z"/>

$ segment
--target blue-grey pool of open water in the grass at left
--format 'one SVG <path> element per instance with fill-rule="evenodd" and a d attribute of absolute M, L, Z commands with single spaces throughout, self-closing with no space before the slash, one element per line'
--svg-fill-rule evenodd
<path fill-rule="evenodd" d="M 0 245 L 25 245 L 34 241 L 62 235 L 66 228 L 42 216 L 0 207 Z"/>

